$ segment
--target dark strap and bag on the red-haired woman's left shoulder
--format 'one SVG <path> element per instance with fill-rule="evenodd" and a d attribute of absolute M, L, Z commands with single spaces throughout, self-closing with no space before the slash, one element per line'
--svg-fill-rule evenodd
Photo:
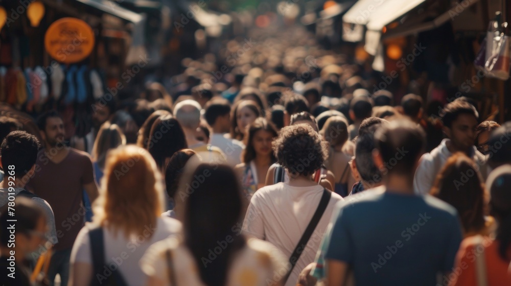
<path fill-rule="evenodd" d="M 119 271 L 119 265 L 115 270 L 108 268 L 105 263 L 105 244 L 103 241 L 103 228 L 98 227 L 89 230 L 90 251 L 92 254 L 92 270 L 94 271 L 90 280 L 91 286 L 127 286 L 124 277 Z M 105 276 L 105 266 L 110 271 L 110 275 Z M 103 280 L 103 278 L 105 280 Z"/>

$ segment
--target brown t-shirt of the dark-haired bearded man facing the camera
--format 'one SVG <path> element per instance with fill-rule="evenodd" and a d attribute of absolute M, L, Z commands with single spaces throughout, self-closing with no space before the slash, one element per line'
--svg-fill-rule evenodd
<path fill-rule="evenodd" d="M 72 248 L 84 225 L 82 190 L 84 184 L 94 181 L 92 162 L 87 153 L 69 148 L 64 160 L 56 164 L 41 150 L 37 154 L 35 171 L 28 185 L 53 208 L 59 240 L 55 249 Z"/>

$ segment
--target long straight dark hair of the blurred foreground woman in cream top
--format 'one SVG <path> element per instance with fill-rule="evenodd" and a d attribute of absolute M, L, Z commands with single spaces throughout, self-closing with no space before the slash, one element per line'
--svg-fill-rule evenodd
<path fill-rule="evenodd" d="M 204 284 L 225 285 L 230 263 L 236 252 L 245 245 L 243 236 L 233 228 L 243 208 L 239 180 L 227 165 L 200 163 L 190 175 L 188 169 L 187 166 L 184 185 L 195 186 L 196 178 L 201 178 L 203 182 L 193 189 L 185 201 L 185 245 L 198 265 Z M 218 242 L 225 241 L 229 236 L 232 241 L 229 239 L 225 247 L 222 246 L 222 254 L 215 261 L 204 263 L 204 257 L 208 257 L 210 251 L 218 247 Z"/>

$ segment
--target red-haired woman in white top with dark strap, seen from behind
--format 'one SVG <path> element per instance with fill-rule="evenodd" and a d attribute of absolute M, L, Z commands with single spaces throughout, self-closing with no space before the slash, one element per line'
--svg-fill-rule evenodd
<path fill-rule="evenodd" d="M 138 260 L 151 244 L 181 228 L 177 220 L 160 217 L 163 192 L 161 175 L 146 150 L 129 145 L 110 151 L 94 220 L 73 245 L 70 285 L 101 284 L 109 277 L 122 277 L 127 285 L 143 284 Z M 104 251 L 98 254 L 101 247 Z M 94 263 L 95 254 L 103 257 L 100 265 Z"/>

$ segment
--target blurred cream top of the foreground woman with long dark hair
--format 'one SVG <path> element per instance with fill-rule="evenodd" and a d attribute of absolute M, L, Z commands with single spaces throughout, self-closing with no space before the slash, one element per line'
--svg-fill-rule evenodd
<path fill-rule="evenodd" d="M 167 251 L 171 250 L 172 270 L 177 285 L 204 286 L 200 279 L 197 263 L 188 248 L 176 239 L 163 240 L 152 245 L 140 260 L 142 271 L 148 276 L 157 277 L 170 285 Z M 288 261 L 284 254 L 270 243 L 248 239 L 246 246 L 235 253 L 230 263 L 226 286 L 267 286 L 268 281 L 281 279 L 287 272 Z M 202 263 L 215 263 L 203 260 Z M 207 267 L 207 265 L 206 265 Z M 284 274 L 279 274 L 284 273 Z"/>

